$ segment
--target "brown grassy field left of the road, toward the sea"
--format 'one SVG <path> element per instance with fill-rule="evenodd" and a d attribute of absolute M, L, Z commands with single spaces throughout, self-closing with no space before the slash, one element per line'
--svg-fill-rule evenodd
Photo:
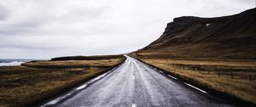
<path fill-rule="evenodd" d="M 0 106 L 36 104 L 90 80 L 124 60 L 125 57 L 119 55 L 105 56 L 104 59 L 32 61 L 20 66 L 0 66 Z M 93 73 L 89 73 L 89 69 Z"/>

